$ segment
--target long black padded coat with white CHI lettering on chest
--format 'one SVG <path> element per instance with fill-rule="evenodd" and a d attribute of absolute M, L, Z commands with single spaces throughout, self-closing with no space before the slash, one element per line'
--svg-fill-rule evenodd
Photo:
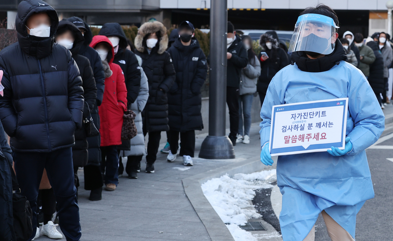
<path fill-rule="evenodd" d="M 174 131 L 202 130 L 200 88 L 206 80 L 206 56 L 193 38 L 184 46 L 177 38 L 168 49 L 176 71 L 176 81 L 168 93 L 169 129 Z"/>

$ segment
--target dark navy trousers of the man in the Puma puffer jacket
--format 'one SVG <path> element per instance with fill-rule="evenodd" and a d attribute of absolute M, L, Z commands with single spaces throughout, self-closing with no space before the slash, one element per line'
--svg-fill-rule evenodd
<path fill-rule="evenodd" d="M 30 202 L 33 213 L 31 219 L 33 233 L 30 238 L 32 239 L 36 232 L 37 196 L 45 168 L 56 197 L 61 231 L 67 241 L 79 241 L 82 234 L 71 147 L 48 153 L 14 152 L 13 157 L 21 194 Z"/>

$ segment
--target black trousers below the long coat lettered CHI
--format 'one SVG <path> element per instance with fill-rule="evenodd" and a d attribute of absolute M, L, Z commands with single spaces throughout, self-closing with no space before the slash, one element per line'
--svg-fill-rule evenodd
<path fill-rule="evenodd" d="M 171 146 L 171 152 L 177 153 L 179 148 L 179 131 L 169 131 L 169 145 Z M 180 132 L 180 156 L 191 156 L 194 157 L 195 151 L 195 131 Z"/>

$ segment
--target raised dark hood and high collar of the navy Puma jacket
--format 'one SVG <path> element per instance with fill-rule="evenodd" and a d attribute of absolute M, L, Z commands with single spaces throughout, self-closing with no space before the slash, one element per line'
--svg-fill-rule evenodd
<path fill-rule="evenodd" d="M 47 13 L 51 19 L 50 35 L 47 38 L 32 36 L 27 33 L 26 22 L 31 14 Z M 36 56 L 38 59 L 49 56 L 52 52 L 55 32 L 59 25 L 57 13 L 51 5 L 41 0 L 24 0 L 18 5 L 15 28 L 18 32 L 20 47 L 28 55 Z"/>

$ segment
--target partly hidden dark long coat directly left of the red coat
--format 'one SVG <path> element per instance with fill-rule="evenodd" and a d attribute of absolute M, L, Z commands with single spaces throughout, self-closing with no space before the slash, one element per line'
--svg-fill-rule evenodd
<path fill-rule="evenodd" d="M 99 57 L 97 51 L 95 51 L 92 47 L 89 46 L 93 40 L 93 34 L 92 31 L 90 30 L 89 25 L 78 17 L 68 18 L 67 21 L 70 21 L 72 23 L 78 23 L 76 25 L 83 23 L 84 27 L 87 29 L 87 31 L 84 31 L 84 36 L 83 36 L 84 43 L 81 46 L 81 49 L 79 49 L 79 54 L 89 59 L 90 66 L 93 69 L 95 86 L 97 87 L 97 99 L 95 105 L 90 108 L 92 108 L 91 115 L 93 118 L 94 125 L 97 129 L 99 129 L 100 119 L 98 114 L 98 106 L 100 106 L 102 103 L 102 99 L 104 96 L 104 87 L 105 87 L 104 85 L 105 74 L 104 74 L 101 58 Z M 101 149 L 100 149 L 101 136 L 98 135 L 97 137 L 88 137 L 87 142 L 89 145 L 88 164 L 99 165 L 101 163 Z"/>

